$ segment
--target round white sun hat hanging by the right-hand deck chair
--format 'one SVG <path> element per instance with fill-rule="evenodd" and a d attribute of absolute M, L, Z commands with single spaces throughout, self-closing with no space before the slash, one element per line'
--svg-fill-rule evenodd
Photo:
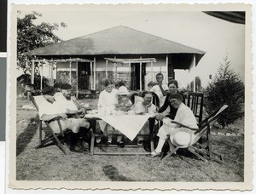
<path fill-rule="evenodd" d="M 170 139 L 173 145 L 183 148 L 194 143 L 195 134 L 189 128 L 175 128 L 170 135 Z"/>

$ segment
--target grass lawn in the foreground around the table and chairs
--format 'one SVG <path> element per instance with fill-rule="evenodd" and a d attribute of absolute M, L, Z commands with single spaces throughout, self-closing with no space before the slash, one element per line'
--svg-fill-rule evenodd
<path fill-rule="evenodd" d="M 90 106 L 96 100 L 85 100 Z M 16 179 L 87 181 L 199 181 L 242 182 L 244 180 L 244 136 L 212 135 L 212 148 L 225 163 L 203 162 L 186 151 L 160 161 L 147 156 L 90 156 L 89 151 L 67 156 L 56 145 L 38 145 L 38 115 L 29 100 L 17 99 Z M 242 125 L 241 125 L 242 126 Z M 243 128 L 242 128 L 243 129 Z M 99 149 L 99 148 L 96 148 Z M 121 149 L 121 148 L 108 148 Z M 132 151 L 137 148 L 123 148 Z M 143 149 L 143 148 L 139 148 Z"/>

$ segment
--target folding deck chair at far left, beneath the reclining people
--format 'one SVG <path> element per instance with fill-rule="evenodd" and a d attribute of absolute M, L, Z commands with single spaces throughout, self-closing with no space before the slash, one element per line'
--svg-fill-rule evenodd
<path fill-rule="evenodd" d="M 39 111 L 38 107 L 40 105 L 40 103 L 44 100 L 44 95 L 38 95 L 38 96 L 32 96 L 31 94 L 29 95 L 30 100 L 32 100 L 32 103 L 34 106 L 36 106 L 37 110 Z M 47 138 L 42 138 L 42 119 L 39 119 L 39 124 L 38 124 L 38 130 L 39 130 L 39 145 L 36 146 L 36 148 L 40 148 L 43 147 L 45 145 L 49 145 L 50 143 L 55 143 L 60 149 L 61 151 L 63 151 L 63 153 L 66 155 L 66 151 L 64 146 L 61 144 L 61 141 L 59 140 L 59 138 L 64 137 L 64 133 L 63 130 L 61 128 L 61 123 L 60 123 L 60 119 L 61 117 L 55 117 L 54 119 L 50 120 L 50 121 L 44 121 L 44 123 L 46 124 L 46 126 L 49 128 L 49 131 L 51 133 L 51 135 Z M 54 130 L 49 126 L 49 123 L 56 120 L 58 122 L 59 128 L 60 128 L 60 133 L 59 134 L 55 134 Z"/>

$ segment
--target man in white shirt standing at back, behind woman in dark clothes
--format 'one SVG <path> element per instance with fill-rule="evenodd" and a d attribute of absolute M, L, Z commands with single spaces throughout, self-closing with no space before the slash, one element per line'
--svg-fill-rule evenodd
<path fill-rule="evenodd" d="M 156 74 L 156 81 L 157 85 L 154 85 L 150 91 L 154 92 L 158 95 L 158 98 L 160 100 L 160 107 L 164 105 L 164 102 L 166 100 L 166 92 L 168 91 L 168 86 L 166 84 L 163 84 L 164 75 L 162 73 Z"/>

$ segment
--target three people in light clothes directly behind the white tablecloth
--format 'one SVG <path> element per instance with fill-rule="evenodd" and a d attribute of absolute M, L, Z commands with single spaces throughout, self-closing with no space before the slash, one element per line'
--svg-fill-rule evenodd
<path fill-rule="evenodd" d="M 129 99 L 128 89 L 121 85 L 119 88 L 113 87 L 113 81 L 106 79 L 103 82 L 104 90 L 99 95 L 98 111 L 105 114 L 111 111 L 134 111 L 137 114 L 143 113 L 155 113 L 156 107 L 152 104 L 152 94 L 149 91 L 144 91 L 142 94 L 143 100 L 138 100 L 136 104 L 132 105 Z M 108 144 L 112 144 L 112 134 L 119 133 L 111 125 L 104 121 L 99 121 L 102 132 L 108 135 Z M 148 123 L 145 123 L 139 134 L 148 133 Z M 101 139 L 96 140 L 99 143 Z M 125 141 L 122 140 L 122 136 L 117 137 L 117 145 L 124 147 Z M 143 145 L 143 137 L 138 135 L 137 145 Z"/>

